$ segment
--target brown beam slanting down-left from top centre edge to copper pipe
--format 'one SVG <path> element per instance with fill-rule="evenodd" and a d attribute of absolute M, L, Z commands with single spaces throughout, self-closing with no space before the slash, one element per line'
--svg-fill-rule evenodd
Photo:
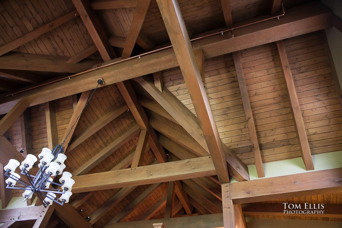
<path fill-rule="evenodd" d="M 123 48 L 121 58 L 129 58 L 132 54 L 136 39 L 143 26 L 149 5 L 152 0 L 137 0 L 131 26 L 128 30 L 126 43 Z"/>

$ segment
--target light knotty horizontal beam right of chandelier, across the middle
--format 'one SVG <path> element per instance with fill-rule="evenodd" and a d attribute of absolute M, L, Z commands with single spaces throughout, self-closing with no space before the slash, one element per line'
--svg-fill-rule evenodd
<path fill-rule="evenodd" d="M 180 169 L 181 167 L 181 169 Z M 86 192 L 215 175 L 210 157 L 75 176 L 73 192 Z"/>

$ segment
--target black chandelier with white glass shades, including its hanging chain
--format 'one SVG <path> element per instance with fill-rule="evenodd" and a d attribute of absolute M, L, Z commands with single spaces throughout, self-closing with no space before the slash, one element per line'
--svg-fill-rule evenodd
<path fill-rule="evenodd" d="M 71 192 L 71 189 L 75 184 L 75 180 L 71 178 L 71 173 L 63 172 L 66 167 L 64 161 L 67 159 L 66 155 L 64 154 L 63 145 L 66 138 L 69 136 L 70 132 L 76 125 L 78 119 L 82 115 L 84 108 L 86 108 L 89 100 L 100 84 L 103 84 L 102 79 L 97 80 L 96 88 L 89 96 L 86 104 L 75 120 L 73 126 L 71 126 L 70 131 L 64 138 L 63 142 L 56 145 L 52 150 L 50 150 L 49 148 L 42 149 L 41 153 L 38 155 L 40 163 L 38 164 L 39 170 L 35 176 L 31 175 L 29 171 L 38 160 L 36 156 L 28 154 L 24 161 L 22 161 L 21 165 L 20 162 L 15 159 L 9 160 L 8 164 L 3 167 L 3 169 L 5 170 L 4 175 L 6 177 L 9 177 L 5 180 L 5 183 L 7 184 L 6 188 L 25 190 L 23 192 L 24 201 L 27 199 L 31 199 L 33 193 L 36 193 L 37 197 L 43 203 L 44 207 L 51 205 L 53 202 L 56 202 L 60 205 L 69 202 L 69 198 L 73 194 Z M 20 169 L 20 174 L 24 175 L 26 177 L 26 180 L 21 179 L 21 175 L 15 173 L 15 170 L 18 166 Z M 57 175 L 62 175 L 59 179 L 60 183 L 54 182 L 54 177 Z M 50 188 L 51 184 L 59 186 L 61 189 L 55 189 L 52 187 Z M 60 195 L 60 197 L 57 197 L 56 194 Z"/>

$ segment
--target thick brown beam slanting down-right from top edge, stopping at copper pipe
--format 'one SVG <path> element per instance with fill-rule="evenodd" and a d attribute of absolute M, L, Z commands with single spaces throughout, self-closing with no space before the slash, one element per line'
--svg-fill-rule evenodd
<path fill-rule="evenodd" d="M 73 0 L 73 3 L 103 60 L 109 61 L 110 59 L 116 58 L 115 52 L 108 43 L 107 35 L 100 21 L 94 10 L 90 7 L 89 0 Z"/>

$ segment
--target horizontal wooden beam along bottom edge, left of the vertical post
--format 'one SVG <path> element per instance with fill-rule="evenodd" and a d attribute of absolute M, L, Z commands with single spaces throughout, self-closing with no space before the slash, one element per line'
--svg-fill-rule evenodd
<path fill-rule="evenodd" d="M 107 223 L 104 228 L 151 228 L 154 223 L 163 223 L 163 226 L 167 228 L 179 228 L 179 227 L 196 227 L 196 228 L 208 228 L 208 227 L 223 227 L 223 215 L 211 214 L 211 215 L 198 215 L 179 218 L 166 218 L 155 219 L 146 221 L 135 221 L 126 223 Z"/>

